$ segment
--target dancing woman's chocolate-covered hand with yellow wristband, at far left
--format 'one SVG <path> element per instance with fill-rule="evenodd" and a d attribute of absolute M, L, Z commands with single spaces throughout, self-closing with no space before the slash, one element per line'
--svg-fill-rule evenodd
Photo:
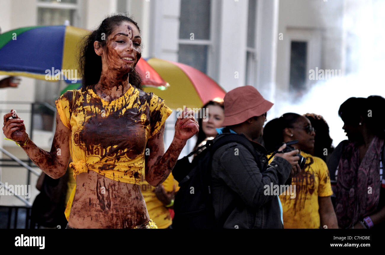
<path fill-rule="evenodd" d="M 23 122 L 24 120 L 21 120 L 13 110 L 5 114 L 3 126 L 5 137 L 18 143 L 25 142 L 28 139 L 28 134 L 25 132 Z"/>

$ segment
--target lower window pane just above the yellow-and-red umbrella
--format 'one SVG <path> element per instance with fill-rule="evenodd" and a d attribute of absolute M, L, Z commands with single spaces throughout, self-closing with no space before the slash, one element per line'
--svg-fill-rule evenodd
<path fill-rule="evenodd" d="M 178 62 L 207 72 L 207 45 L 179 44 Z"/>

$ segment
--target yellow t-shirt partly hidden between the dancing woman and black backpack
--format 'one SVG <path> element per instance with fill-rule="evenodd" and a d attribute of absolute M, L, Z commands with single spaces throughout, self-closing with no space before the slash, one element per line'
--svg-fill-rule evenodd
<path fill-rule="evenodd" d="M 142 195 L 144 197 L 144 201 L 146 202 L 147 211 L 150 218 L 156 223 L 158 228 L 167 228 L 172 224 L 171 215 L 169 210 L 164 207 L 163 203 L 156 197 L 155 189 L 156 187 L 151 186 L 148 182 L 146 182 L 146 178 L 144 175 L 144 168 L 142 169 L 142 177 L 141 177 L 141 190 Z M 173 186 L 175 185 L 175 191 L 179 190 L 178 182 L 170 173 L 169 177 L 161 184 L 164 187 L 164 190 L 167 192 L 171 192 L 173 190 Z"/>

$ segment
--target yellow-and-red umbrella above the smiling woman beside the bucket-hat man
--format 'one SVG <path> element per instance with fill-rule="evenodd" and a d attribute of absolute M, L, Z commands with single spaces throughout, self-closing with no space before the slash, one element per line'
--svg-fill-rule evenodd
<path fill-rule="evenodd" d="M 226 94 L 213 79 L 189 65 L 159 58 L 149 58 L 147 62 L 170 87 L 163 91 L 153 88 L 146 88 L 145 91 L 164 99 L 170 108 L 199 108 L 209 100 L 223 98 Z"/>

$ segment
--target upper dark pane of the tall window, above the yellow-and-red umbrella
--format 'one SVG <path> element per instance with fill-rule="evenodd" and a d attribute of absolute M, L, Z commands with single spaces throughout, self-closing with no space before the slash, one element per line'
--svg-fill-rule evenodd
<path fill-rule="evenodd" d="M 210 39 L 210 1 L 209 0 L 182 0 L 179 38 Z"/>

